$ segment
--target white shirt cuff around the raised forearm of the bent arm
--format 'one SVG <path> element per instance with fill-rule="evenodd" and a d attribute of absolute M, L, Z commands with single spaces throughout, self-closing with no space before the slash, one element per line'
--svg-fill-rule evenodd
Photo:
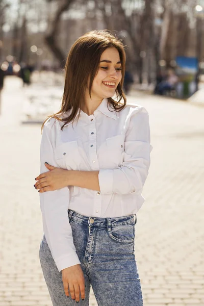
<path fill-rule="evenodd" d="M 113 169 L 100 169 L 98 182 L 101 194 L 113 193 Z"/>

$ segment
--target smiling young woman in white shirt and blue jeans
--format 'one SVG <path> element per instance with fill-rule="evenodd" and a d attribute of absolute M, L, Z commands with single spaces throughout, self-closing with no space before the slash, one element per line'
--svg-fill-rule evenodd
<path fill-rule="evenodd" d="M 142 306 L 134 214 L 150 164 L 147 111 L 126 104 L 125 52 L 108 31 L 72 46 L 61 110 L 44 123 L 40 262 L 54 306 Z M 117 99 L 112 97 L 116 95 Z"/>

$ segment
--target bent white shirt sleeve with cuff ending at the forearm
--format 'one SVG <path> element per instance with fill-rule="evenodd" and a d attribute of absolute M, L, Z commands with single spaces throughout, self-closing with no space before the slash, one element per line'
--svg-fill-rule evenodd
<path fill-rule="evenodd" d="M 140 194 L 150 165 L 149 118 L 141 107 L 129 116 L 130 124 L 125 134 L 124 157 L 121 167 L 100 169 L 98 174 L 102 194 Z"/>

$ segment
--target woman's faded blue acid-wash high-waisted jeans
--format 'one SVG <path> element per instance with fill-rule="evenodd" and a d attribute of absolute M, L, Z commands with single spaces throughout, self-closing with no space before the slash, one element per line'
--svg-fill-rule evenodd
<path fill-rule="evenodd" d="M 134 255 L 134 215 L 117 218 L 86 217 L 68 210 L 73 242 L 85 278 L 85 300 L 90 285 L 98 306 L 142 306 L 140 278 Z M 67 298 L 52 254 L 43 236 L 40 263 L 54 306 L 76 305 Z"/>

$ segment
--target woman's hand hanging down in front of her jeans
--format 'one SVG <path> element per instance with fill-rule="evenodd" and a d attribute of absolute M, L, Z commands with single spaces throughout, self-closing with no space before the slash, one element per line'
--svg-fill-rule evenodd
<path fill-rule="evenodd" d="M 64 285 L 64 292 L 66 296 L 69 296 L 68 289 L 70 291 L 71 298 L 76 302 L 81 299 L 85 299 L 85 281 L 84 274 L 80 265 L 74 265 L 62 270 L 62 281 Z"/>

